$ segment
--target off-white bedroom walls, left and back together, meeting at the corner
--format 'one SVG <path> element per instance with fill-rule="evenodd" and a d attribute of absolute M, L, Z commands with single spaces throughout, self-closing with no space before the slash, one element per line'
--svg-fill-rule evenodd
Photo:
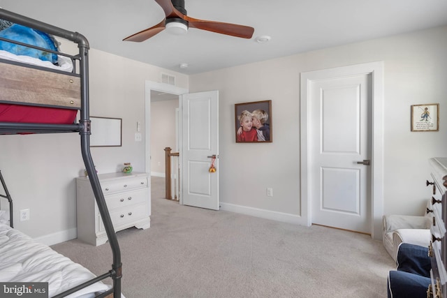
<path fill-rule="evenodd" d="M 263 214 L 300 215 L 300 73 L 384 61 L 384 214 L 420 214 L 427 198 L 427 159 L 446 156 L 447 27 L 333 47 L 188 77 L 91 50 L 91 114 L 123 119 L 123 147 L 92 148 L 98 171 L 123 162 L 144 170 L 145 80 L 176 75 L 191 92 L 219 90 L 220 198 Z M 235 144 L 234 104 L 272 100 L 273 142 Z M 440 103 L 439 132 L 412 133 L 410 105 Z M 142 142 L 134 141 L 136 121 Z M 84 165 L 79 136 L 1 135 L 0 170 L 31 220 L 16 227 L 45 243 L 75 237 L 75 181 Z M 265 188 L 273 188 L 273 198 Z"/>

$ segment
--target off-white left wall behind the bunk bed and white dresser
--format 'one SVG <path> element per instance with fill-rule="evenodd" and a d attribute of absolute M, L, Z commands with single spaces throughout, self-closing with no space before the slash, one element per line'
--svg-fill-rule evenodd
<path fill-rule="evenodd" d="M 176 76 L 179 87 L 189 78 L 112 54 L 89 52 L 90 114 L 122 118 L 122 147 L 94 147 L 91 153 L 99 173 L 121 170 L 131 162 L 145 170 L 145 81 L 160 82 L 161 73 Z M 142 142 L 135 142 L 136 122 Z M 0 170 L 14 200 L 15 228 L 53 244 L 76 237 L 75 177 L 85 166 L 77 133 L 0 135 Z M 21 209 L 30 209 L 30 221 L 19 221 Z"/>

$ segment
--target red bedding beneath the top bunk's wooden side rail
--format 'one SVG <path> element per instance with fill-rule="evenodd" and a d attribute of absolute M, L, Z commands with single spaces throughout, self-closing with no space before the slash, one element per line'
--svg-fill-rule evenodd
<path fill-rule="evenodd" d="M 78 110 L 0 103 L 1 122 L 73 124 Z"/>

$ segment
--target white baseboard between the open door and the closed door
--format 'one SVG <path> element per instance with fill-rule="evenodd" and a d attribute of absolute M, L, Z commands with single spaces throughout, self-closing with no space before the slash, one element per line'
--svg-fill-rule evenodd
<path fill-rule="evenodd" d="M 282 223 L 293 223 L 295 225 L 307 225 L 303 221 L 302 217 L 295 214 L 287 214 L 277 211 L 270 211 L 265 209 L 258 209 L 253 207 L 240 206 L 236 204 L 228 204 L 220 202 L 221 210 L 230 211 L 240 214 L 245 214 L 249 216 L 256 216 L 266 219 L 271 219 L 272 221 L 281 221 Z"/>

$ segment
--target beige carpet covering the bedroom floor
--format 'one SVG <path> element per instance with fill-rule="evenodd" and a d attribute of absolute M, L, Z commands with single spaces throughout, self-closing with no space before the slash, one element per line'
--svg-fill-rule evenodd
<path fill-rule="evenodd" d="M 164 179 L 152 177 L 151 228 L 117 233 L 127 298 L 386 297 L 395 265 L 381 241 L 180 206 L 163 194 Z M 112 264 L 108 244 L 52 248 L 95 274 Z"/>

